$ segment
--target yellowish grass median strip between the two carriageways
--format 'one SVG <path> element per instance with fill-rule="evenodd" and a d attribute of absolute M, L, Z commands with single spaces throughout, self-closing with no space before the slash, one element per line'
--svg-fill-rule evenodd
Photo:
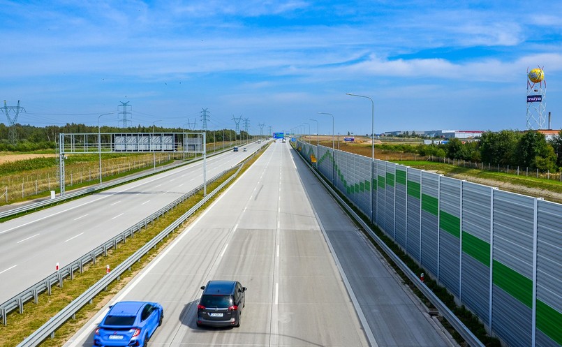
<path fill-rule="evenodd" d="M 240 170 L 239 175 L 247 170 L 265 151 L 267 147 L 263 147 L 257 152 L 252 158 L 250 158 L 244 164 L 242 170 Z M 228 177 L 235 173 L 235 169 L 228 172 L 227 175 L 221 177 L 221 179 L 209 184 L 207 189 L 212 191 L 216 189 L 217 186 L 222 184 Z M 234 181 L 230 182 L 232 184 Z M 223 188 L 226 189 L 228 184 Z M 220 194 L 214 195 L 213 198 L 209 199 L 205 205 L 203 205 L 198 212 L 195 212 L 193 216 L 186 220 L 182 227 L 178 228 L 174 232 L 170 233 L 163 242 L 158 244 L 154 249 L 149 251 L 140 261 L 135 263 L 131 267 L 130 272 L 125 272 L 121 275 L 121 279 L 114 281 L 108 286 L 107 290 L 97 295 L 91 304 L 87 304 L 75 315 L 75 319 L 68 320 L 62 327 L 55 333 L 54 339 L 47 339 L 43 341 L 40 346 L 51 347 L 51 346 L 62 346 L 68 338 L 72 337 L 77 330 L 80 329 L 87 321 L 94 316 L 94 314 L 103 307 L 114 295 L 116 295 L 121 288 L 123 288 L 128 281 L 131 281 L 133 277 L 142 270 L 153 258 L 155 258 L 160 251 L 162 251 L 165 246 L 172 242 L 177 235 L 179 235 L 184 226 L 191 223 L 197 216 L 207 208 Z M 108 251 L 108 256 L 98 257 L 96 264 L 89 264 L 84 267 L 84 272 L 76 273 L 74 279 L 66 279 L 64 281 L 63 288 L 53 287 L 52 294 L 47 295 L 43 293 L 39 295 L 38 304 L 34 302 L 27 302 L 24 304 L 24 313 L 20 314 L 14 311 L 8 314 L 8 325 L 0 325 L 0 346 L 3 347 L 13 347 L 17 346 L 21 341 L 23 341 L 32 332 L 36 331 L 41 325 L 43 325 L 47 320 L 52 318 L 61 309 L 64 309 L 68 304 L 70 304 L 75 298 L 84 293 L 87 288 L 91 287 L 99 281 L 103 276 L 105 276 L 105 265 L 111 265 L 112 268 L 116 267 L 128 257 L 130 257 L 135 251 L 140 249 L 143 245 L 154 238 L 158 233 L 169 226 L 173 221 L 182 216 L 188 209 L 193 207 L 197 202 L 203 198 L 202 192 L 193 195 L 188 198 L 182 204 L 177 205 L 175 209 L 162 216 L 160 219 L 151 223 L 145 230 L 138 232 L 134 237 L 128 238 L 126 242 L 119 244 L 117 249 L 112 249 Z"/>

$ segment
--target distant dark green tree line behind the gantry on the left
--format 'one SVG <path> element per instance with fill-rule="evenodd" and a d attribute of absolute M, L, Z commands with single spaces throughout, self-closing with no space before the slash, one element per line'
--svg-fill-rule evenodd
<path fill-rule="evenodd" d="M 127 128 L 119 128 L 117 126 L 101 126 L 101 133 L 151 133 L 152 126 L 130 126 Z M 84 124 L 67 123 L 64 126 L 31 126 L 15 124 L 17 143 L 13 144 L 8 141 L 9 127 L 0 123 L 0 151 L 9 152 L 31 152 L 41 149 L 55 149 L 59 139 L 59 133 L 98 133 L 97 126 L 87 126 Z M 165 128 L 162 126 L 154 126 L 155 133 L 182 133 L 186 131 L 183 128 Z M 190 129 L 190 132 L 202 133 L 202 130 Z M 232 129 L 220 129 L 215 131 L 206 131 L 207 143 L 234 141 L 251 139 L 252 136 L 246 131 L 240 131 L 236 134 Z"/>

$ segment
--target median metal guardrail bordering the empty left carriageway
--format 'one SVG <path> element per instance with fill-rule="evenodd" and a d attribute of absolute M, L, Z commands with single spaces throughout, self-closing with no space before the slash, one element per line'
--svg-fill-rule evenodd
<path fill-rule="evenodd" d="M 230 170 L 232 170 L 232 169 L 224 170 L 223 172 L 219 173 L 219 175 L 216 175 L 215 177 L 210 179 L 208 181 L 208 183 L 216 181 L 216 179 L 219 179 L 220 177 L 225 175 L 226 172 L 228 172 Z M 45 290 L 50 295 L 51 294 L 51 288 L 52 288 L 53 285 L 58 284 L 59 286 L 62 287 L 63 283 L 64 283 L 63 280 L 66 279 L 67 277 L 70 277 L 71 279 L 73 279 L 75 271 L 79 270 L 80 272 L 82 272 L 82 269 L 83 269 L 84 265 L 86 265 L 87 263 L 94 263 L 95 264 L 96 258 L 98 256 L 107 255 L 109 249 L 117 248 L 117 244 L 119 242 L 125 242 L 127 237 L 133 236 L 135 234 L 135 232 L 140 231 L 143 227 L 146 228 L 148 223 L 150 223 L 151 221 L 154 221 L 154 219 L 158 219 L 160 216 L 162 216 L 163 214 L 168 212 L 170 209 L 177 206 L 179 203 L 184 202 L 184 200 L 191 197 L 191 195 L 200 191 L 202 189 L 202 187 L 203 187 L 203 185 L 200 184 L 200 186 L 197 186 L 195 189 L 192 189 L 188 193 L 186 193 L 186 194 L 180 196 L 179 198 L 177 198 L 176 200 L 170 202 L 170 204 L 168 204 L 165 207 L 163 207 L 163 208 L 159 209 L 158 211 L 154 212 L 153 214 L 151 214 L 147 218 L 142 219 L 142 221 L 139 221 L 138 223 L 135 223 L 133 226 L 129 227 L 124 232 L 121 232 L 116 237 L 113 237 L 112 239 L 110 239 L 110 240 L 104 242 L 103 244 L 97 246 L 96 248 L 92 249 L 88 253 L 84 254 L 84 256 L 81 256 L 80 258 L 74 260 L 73 262 L 69 263 L 68 265 L 62 267 L 61 269 L 59 269 L 59 271 L 50 274 L 45 279 L 39 281 L 38 283 L 36 283 L 33 286 L 27 288 L 26 290 L 23 290 L 21 293 L 15 295 L 14 297 L 7 300 L 6 302 L 3 302 L 3 304 L 0 304 L 0 316 L 2 317 L 3 325 L 8 324 L 8 320 L 7 320 L 8 313 L 10 313 L 11 311 L 14 311 L 15 309 L 19 309 L 20 313 L 23 313 L 23 310 L 24 310 L 23 306 L 24 306 L 25 302 L 28 302 L 29 300 L 34 300 L 34 302 L 37 303 L 38 295 L 40 293 L 43 293 Z"/>

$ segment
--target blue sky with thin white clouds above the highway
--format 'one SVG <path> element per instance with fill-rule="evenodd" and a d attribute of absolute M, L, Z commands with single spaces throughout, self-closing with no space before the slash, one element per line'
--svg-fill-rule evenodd
<path fill-rule="evenodd" d="M 18 122 L 316 133 L 526 128 L 543 67 L 562 128 L 560 1 L 4 1 L 0 99 Z M 1 121 L 6 123 L 6 116 Z M 118 115 L 101 117 L 118 125 Z M 306 128 L 308 126 L 300 126 Z"/>

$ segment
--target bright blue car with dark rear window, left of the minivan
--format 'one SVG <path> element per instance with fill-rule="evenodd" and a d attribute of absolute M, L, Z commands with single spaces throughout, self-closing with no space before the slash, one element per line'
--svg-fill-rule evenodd
<path fill-rule="evenodd" d="M 94 346 L 146 346 L 162 325 L 164 310 L 157 302 L 117 302 L 101 320 Z"/>

